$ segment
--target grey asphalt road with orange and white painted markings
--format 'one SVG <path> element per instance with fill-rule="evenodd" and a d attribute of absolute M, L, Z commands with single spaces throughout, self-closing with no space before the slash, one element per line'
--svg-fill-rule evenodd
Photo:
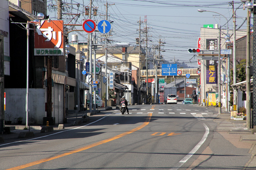
<path fill-rule="evenodd" d="M 218 130 L 215 109 L 164 104 L 104 113 L 83 126 L 0 145 L 0 169 L 242 170 L 251 160 L 252 145 L 237 147 Z"/>

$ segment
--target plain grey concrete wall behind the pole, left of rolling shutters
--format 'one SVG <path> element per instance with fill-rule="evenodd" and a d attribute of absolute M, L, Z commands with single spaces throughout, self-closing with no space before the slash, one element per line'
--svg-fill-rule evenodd
<path fill-rule="evenodd" d="M 5 89 L 5 120 L 6 114 L 12 114 L 12 123 L 17 123 L 18 117 L 23 117 L 22 124 L 26 123 L 26 89 Z M 45 117 L 44 89 L 29 89 L 30 124 L 43 124 Z"/>

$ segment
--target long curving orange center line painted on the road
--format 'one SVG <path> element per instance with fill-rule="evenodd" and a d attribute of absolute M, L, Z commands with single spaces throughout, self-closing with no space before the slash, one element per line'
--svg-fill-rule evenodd
<path fill-rule="evenodd" d="M 153 107 L 153 106 L 152 106 L 152 107 Z M 154 106 L 154 107 L 155 107 L 155 106 Z M 145 122 L 144 122 L 142 125 L 138 126 L 138 127 L 135 128 L 135 129 L 132 129 L 132 130 L 130 130 L 130 131 L 124 132 L 124 133 L 122 133 L 122 134 L 120 134 L 120 135 L 117 135 L 117 136 L 114 136 L 114 137 L 105 139 L 105 140 L 100 141 L 100 142 L 93 143 L 93 144 L 91 144 L 91 145 L 87 145 L 87 146 L 85 146 L 85 147 L 81 147 L 81 148 L 75 149 L 75 150 L 73 150 L 73 151 L 70 151 L 70 152 L 67 152 L 67 153 L 63 153 L 63 154 L 60 154 L 60 155 L 57 155 L 57 156 L 54 156 L 54 157 L 51 157 L 51 158 L 40 159 L 40 160 L 31 162 L 31 163 L 27 163 L 27 164 L 24 164 L 24 165 L 16 166 L 16 167 L 14 167 L 14 168 L 6 169 L 6 170 L 19 170 L 19 169 L 27 168 L 27 167 L 30 167 L 30 166 L 33 166 L 33 165 L 38 165 L 38 164 L 41 164 L 41 163 L 44 163 L 44 162 L 48 162 L 48 161 L 53 160 L 53 159 L 57 159 L 57 158 L 64 157 L 64 156 L 66 156 L 66 155 L 70 155 L 70 154 L 73 154 L 73 153 L 81 152 L 81 151 L 84 151 L 84 150 L 86 150 L 86 149 L 89 149 L 89 148 L 92 148 L 92 147 L 101 145 L 101 144 L 103 144 L 103 143 L 107 143 L 107 142 L 116 140 L 116 139 L 118 139 L 118 138 L 120 138 L 120 137 L 126 136 L 126 135 L 128 135 L 128 134 L 131 134 L 132 132 L 135 132 L 135 131 L 137 131 L 137 130 L 140 130 L 140 129 L 144 128 L 146 125 L 149 124 L 150 119 L 151 119 L 151 116 L 152 116 L 152 113 L 149 113 L 149 114 L 148 114 L 148 117 L 146 118 Z"/>

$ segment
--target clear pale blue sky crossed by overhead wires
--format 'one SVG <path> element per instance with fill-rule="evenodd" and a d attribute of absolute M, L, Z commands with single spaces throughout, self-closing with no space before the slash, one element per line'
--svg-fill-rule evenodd
<path fill-rule="evenodd" d="M 148 27 L 148 47 L 161 42 L 161 55 L 165 61 L 185 62 L 188 66 L 197 67 L 197 58 L 193 53 L 188 53 L 188 49 L 197 48 L 197 41 L 200 37 L 200 28 L 204 24 L 220 24 L 226 29 L 226 19 L 233 15 L 233 3 L 226 0 L 93 0 L 92 6 L 97 6 L 97 16 L 93 16 L 94 21 L 106 19 L 106 4 L 108 5 L 108 20 L 111 24 L 112 33 L 110 39 L 116 42 L 129 42 L 136 45 L 135 38 L 139 38 L 139 23 L 141 19 L 141 29 Z M 240 6 L 240 0 L 234 1 L 236 10 L 237 28 L 246 29 L 246 11 Z M 56 1 L 47 1 L 47 15 L 50 19 L 57 19 Z M 90 5 L 90 0 L 63 0 L 63 20 L 65 24 L 82 24 L 88 16 L 84 15 L 84 7 Z M 240 7 L 239 7 L 240 6 Z M 238 8 L 239 7 L 239 8 Z M 198 9 L 218 12 L 198 12 Z M 145 22 L 146 18 L 146 22 Z M 82 26 L 68 26 L 69 29 L 82 29 Z M 233 19 L 228 23 L 229 30 L 233 30 Z M 78 34 L 79 42 L 87 42 L 86 32 L 71 32 Z M 98 35 L 98 32 L 97 32 Z M 142 33 L 142 38 L 145 34 Z M 101 39 L 97 38 L 98 44 Z M 145 42 L 145 41 L 144 41 Z M 104 43 L 104 42 L 102 42 Z M 142 46 L 145 46 L 142 43 Z"/>

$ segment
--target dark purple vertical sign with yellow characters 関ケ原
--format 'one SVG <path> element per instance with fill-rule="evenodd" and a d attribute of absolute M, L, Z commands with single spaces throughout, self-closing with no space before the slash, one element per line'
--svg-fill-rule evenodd
<path fill-rule="evenodd" d="M 206 84 L 218 84 L 217 60 L 206 60 Z"/>

